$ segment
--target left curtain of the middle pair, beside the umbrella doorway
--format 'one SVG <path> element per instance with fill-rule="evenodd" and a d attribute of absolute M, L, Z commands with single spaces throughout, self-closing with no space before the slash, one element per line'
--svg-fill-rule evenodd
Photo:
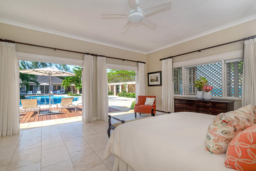
<path fill-rule="evenodd" d="M 82 119 L 83 122 L 93 122 L 92 116 L 92 77 L 93 56 L 84 55 L 83 77 L 82 77 Z"/>

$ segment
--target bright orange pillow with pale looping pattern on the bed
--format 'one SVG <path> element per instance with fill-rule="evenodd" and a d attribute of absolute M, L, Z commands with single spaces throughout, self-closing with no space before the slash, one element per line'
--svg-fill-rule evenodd
<path fill-rule="evenodd" d="M 240 171 L 256 170 L 256 125 L 246 128 L 232 139 L 225 166 Z"/>

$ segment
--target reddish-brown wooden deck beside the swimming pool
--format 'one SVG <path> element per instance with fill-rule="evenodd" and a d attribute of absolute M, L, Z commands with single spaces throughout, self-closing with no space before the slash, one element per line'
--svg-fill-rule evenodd
<path fill-rule="evenodd" d="M 59 110 L 60 108 L 53 107 L 52 110 Z M 41 109 L 40 112 L 48 111 L 48 108 Z M 120 111 L 118 109 L 108 107 L 108 112 L 117 112 Z M 20 123 L 28 123 L 28 122 L 37 122 L 37 121 L 45 121 L 45 120 L 52 120 L 52 119 L 60 119 L 60 118 L 69 118 L 75 116 L 82 116 L 82 106 L 78 106 L 77 112 L 75 112 L 75 108 L 68 108 L 62 109 L 61 114 L 52 114 L 52 115 L 42 115 L 37 116 L 37 112 L 22 112 L 20 113 Z"/>

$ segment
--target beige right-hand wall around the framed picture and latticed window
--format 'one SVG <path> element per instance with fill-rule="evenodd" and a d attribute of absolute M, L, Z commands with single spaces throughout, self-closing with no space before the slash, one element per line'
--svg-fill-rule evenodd
<path fill-rule="evenodd" d="M 252 35 L 256 35 L 256 20 L 252 20 L 237 26 L 233 26 L 194 40 L 190 40 L 163 50 L 159 50 L 157 52 L 153 52 L 147 54 L 147 72 L 161 71 L 162 65 L 159 59 L 174 56 L 210 46 L 214 46 L 217 44 L 222 44 L 234 40 L 238 40 L 244 37 L 249 37 Z M 210 55 L 221 54 L 225 52 L 232 52 L 236 50 L 243 49 L 243 42 L 232 43 L 229 45 L 224 45 L 208 50 L 204 50 L 201 52 L 195 52 L 179 57 L 173 58 L 173 62 L 180 62 L 190 59 L 196 59 L 200 57 L 206 57 Z M 162 87 L 147 87 L 147 95 L 156 96 L 156 107 L 157 109 L 161 109 L 161 91 Z M 241 106 L 241 101 L 235 101 L 235 109 Z"/>

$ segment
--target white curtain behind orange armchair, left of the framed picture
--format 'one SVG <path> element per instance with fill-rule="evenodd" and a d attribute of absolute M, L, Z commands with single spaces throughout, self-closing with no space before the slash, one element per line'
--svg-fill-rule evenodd
<path fill-rule="evenodd" d="M 145 64 L 138 62 L 138 68 L 136 72 L 136 103 L 138 102 L 138 96 L 145 95 Z"/>

